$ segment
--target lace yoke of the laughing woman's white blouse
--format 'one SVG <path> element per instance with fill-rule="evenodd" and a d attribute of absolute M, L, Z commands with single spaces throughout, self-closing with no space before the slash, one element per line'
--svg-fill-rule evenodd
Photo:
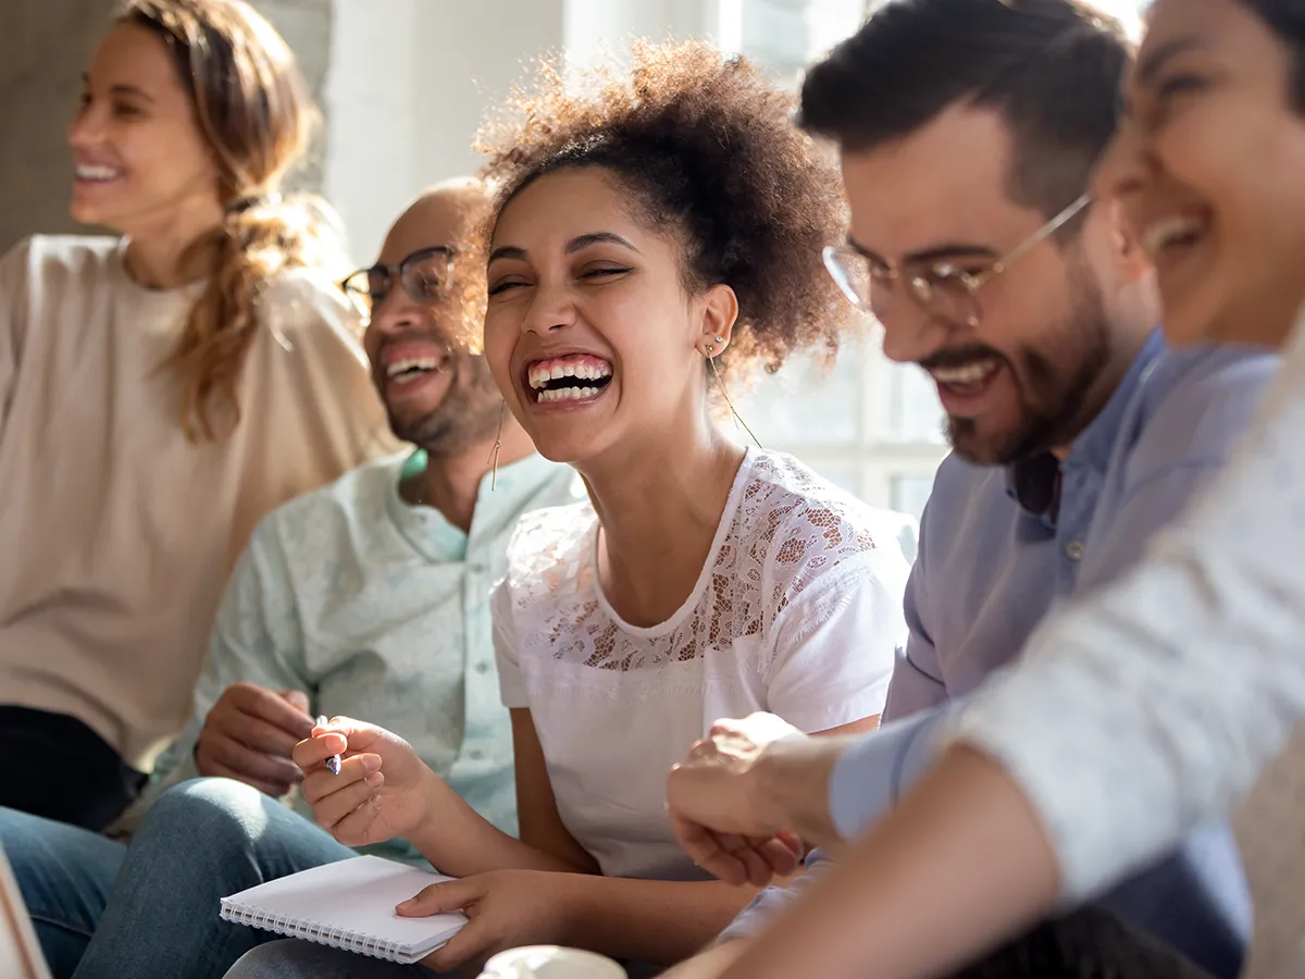
<path fill-rule="evenodd" d="M 592 508 L 536 510 L 522 518 L 508 553 L 519 655 L 626 672 L 701 659 L 749 637 L 774 649 L 787 610 L 801 619 L 813 604 L 795 606 L 799 595 L 820 578 L 842 581 L 864 569 L 876 550 L 872 518 L 796 459 L 750 452 L 693 593 L 667 621 L 645 629 L 620 621 L 599 591 Z M 809 625 L 795 623 L 800 633 Z"/>

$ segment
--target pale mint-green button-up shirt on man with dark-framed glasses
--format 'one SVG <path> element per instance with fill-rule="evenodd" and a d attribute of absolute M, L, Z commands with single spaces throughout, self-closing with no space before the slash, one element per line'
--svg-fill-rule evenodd
<path fill-rule="evenodd" d="M 522 513 L 573 503 L 574 470 L 531 456 L 480 484 L 470 533 L 398 493 L 423 453 L 395 456 L 274 510 L 240 557 L 163 782 L 194 777 L 202 718 L 247 681 L 308 694 L 312 714 L 380 724 L 505 833 L 517 831 L 512 731 L 499 696 L 489 595 Z M 157 773 L 159 774 L 159 773 Z M 294 792 L 296 811 L 312 812 Z M 372 852 L 419 862 L 405 841 Z"/>

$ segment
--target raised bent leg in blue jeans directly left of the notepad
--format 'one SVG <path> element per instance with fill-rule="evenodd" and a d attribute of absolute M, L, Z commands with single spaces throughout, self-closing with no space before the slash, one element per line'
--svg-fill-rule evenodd
<path fill-rule="evenodd" d="M 219 979 L 277 937 L 223 922 L 221 898 L 355 855 L 257 788 L 184 782 L 146 812 L 74 979 Z"/>

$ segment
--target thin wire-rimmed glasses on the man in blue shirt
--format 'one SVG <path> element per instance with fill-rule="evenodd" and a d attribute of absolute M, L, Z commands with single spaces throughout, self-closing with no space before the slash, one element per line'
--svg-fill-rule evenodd
<path fill-rule="evenodd" d="M 981 269 L 963 269 L 955 261 L 881 262 L 863 255 L 852 244 L 827 245 L 825 268 L 856 308 L 874 313 L 874 288 L 891 288 L 906 283 L 907 294 L 929 316 L 957 326 L 977 326 L 983 320 L 979 290 L 1004 273 L 1019 257 L 1031 252 L 1073 219 L 1092 201 L 1084 193 L 1032 235 Z"/>

